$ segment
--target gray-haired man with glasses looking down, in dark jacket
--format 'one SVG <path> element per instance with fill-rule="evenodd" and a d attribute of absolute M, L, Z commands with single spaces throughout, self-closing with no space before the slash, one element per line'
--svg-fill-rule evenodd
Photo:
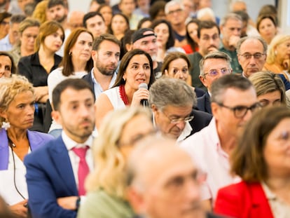
<path fill-rule="evenodd" d="M 210 114 L 193 110 L 196 95 L 181 79 L 158 79 L 149 90 L 153 124 L 163 135 L 181 142 L 209 124 Z"/>

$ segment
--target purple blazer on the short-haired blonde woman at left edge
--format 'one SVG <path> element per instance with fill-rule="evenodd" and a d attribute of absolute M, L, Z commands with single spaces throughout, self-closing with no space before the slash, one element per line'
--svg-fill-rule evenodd
<path fill-rule="evenodd" d="M 39 147 L 46 144 L 46 142 L 53 139 L 52 135 L 42 132 L 35 132 L 27 130 L 27 137 L 32 151 L 39 149 Z M 7 132 L 4 128 L 0 129 L 0 170 L 8 169 L 9 146 Z"/>

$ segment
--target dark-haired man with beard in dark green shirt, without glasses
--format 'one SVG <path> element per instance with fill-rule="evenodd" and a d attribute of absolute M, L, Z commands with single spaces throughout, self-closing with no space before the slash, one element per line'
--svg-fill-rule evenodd
<path fill-rule="evenodd" d="M 202 21 L 198 27 L 198 52 L 195 52 L 191 55 L 188 55 L 189 60 L 191 61 L 192 69 L 189 71 L 191 74 L 191 86 L 202 88 L 207 91 L 207 88 L 200 81 L 200 65 L 198 64 L 202 57 L 207 55 L 210 52 L 216 51 L 219 49 L 219 26 L 216 25 L 213 21 Z"/>

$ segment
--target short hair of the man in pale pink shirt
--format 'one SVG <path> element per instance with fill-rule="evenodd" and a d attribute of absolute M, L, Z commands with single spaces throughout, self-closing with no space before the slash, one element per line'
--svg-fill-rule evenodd
<path fill-rule="evenodd" d="M 249 81 L 249 79 L 245 78 L 244 76 L 237 74 L 227 74 L 225 76 L 221 76 L 221 78 L 216 79 L 216 81 L 212 83 L 211 102 L 222 103 L 224 100 L 223 94 L 229 88 L 245 91 L 249 90 L 250 88 L 254 88 L 254 86 Z"/>

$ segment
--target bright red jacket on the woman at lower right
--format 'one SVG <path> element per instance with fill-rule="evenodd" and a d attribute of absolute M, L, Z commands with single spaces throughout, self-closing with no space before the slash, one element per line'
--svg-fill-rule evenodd
<path fill-rule="evenodd" d="M 219 189 L 214 212 L 236 218 L 274 218 L 260 183 L 239 182 Z"/>

